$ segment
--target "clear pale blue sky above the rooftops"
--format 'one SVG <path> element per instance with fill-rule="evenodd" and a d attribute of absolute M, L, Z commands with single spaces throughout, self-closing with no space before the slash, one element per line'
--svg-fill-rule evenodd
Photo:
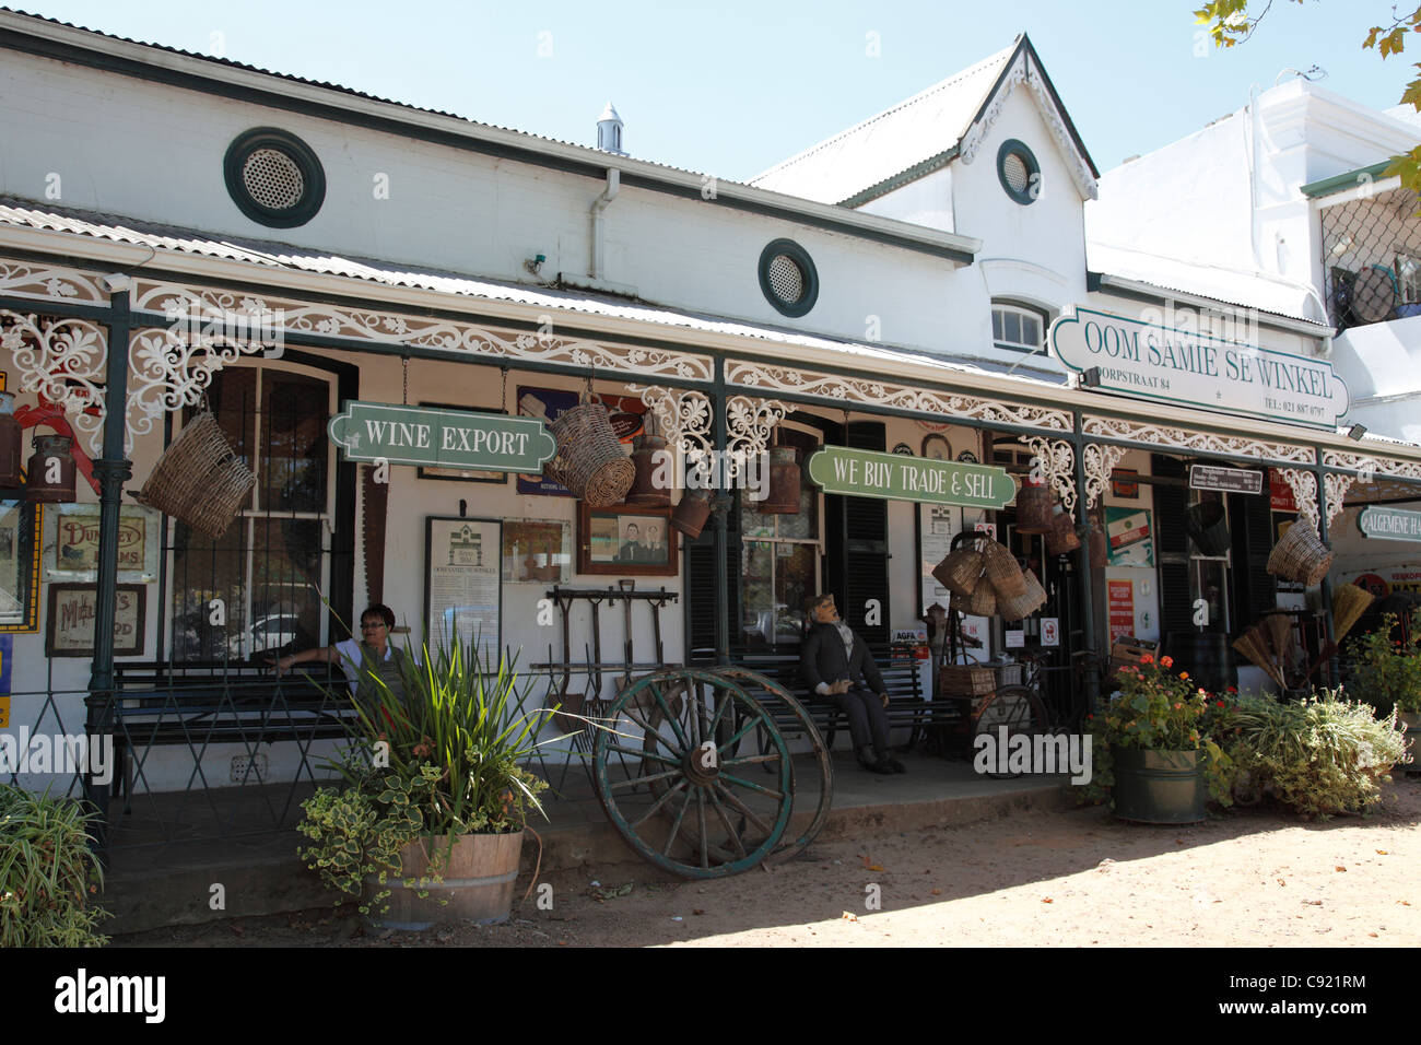
<path fill-rule="evenodd" d="M 1390 21 L 1391 0 L 1273 0 L 1255 37 L 1231 51 L 1199 38 L 1194 0 L 10 1 L 585 145 L 611 100 L 632 155 L 736 181 L 1020 31 L 1101 171 L 1242 107 L 1250 84 L 1270 87 L 1285 68 L 1320 65 L 1324 87 L 1387 108 L 1421 60 L 1421 40 L 1418 54 L 1387 61 L 1361 50 L 1367 27 Z"/>

